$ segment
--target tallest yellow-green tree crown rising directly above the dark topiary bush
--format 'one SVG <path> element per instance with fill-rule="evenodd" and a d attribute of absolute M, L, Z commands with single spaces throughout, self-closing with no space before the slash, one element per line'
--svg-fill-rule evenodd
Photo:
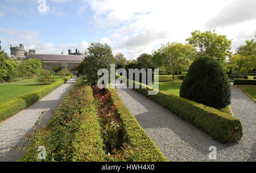
<path fill-rule="evenodd" d="M 196 30 L 191 35 L 192 37 L 186 41 L 197 48 L 198 56 L 213 57 L 223 65 L 226 57 L 231 55 L 232 40 L 228 40 L 226 35 L 217 35 L 215 30 L 205 32 Z"/>

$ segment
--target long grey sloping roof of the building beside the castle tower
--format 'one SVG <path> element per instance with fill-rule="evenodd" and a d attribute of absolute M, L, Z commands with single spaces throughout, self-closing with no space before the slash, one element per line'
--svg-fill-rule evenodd
<path fill-rule="evenodd" d="M 82 62 L 84 56 L 78 55 L 65 55 L 65 54 L 30 54 L 24 60 L 30 60 L 31 58 L 38 59 L 40 61 L 65 61 L 65 62 Z"/>

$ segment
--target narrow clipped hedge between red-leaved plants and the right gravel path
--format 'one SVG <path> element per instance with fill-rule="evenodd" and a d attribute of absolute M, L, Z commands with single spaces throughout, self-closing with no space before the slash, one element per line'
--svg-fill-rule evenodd
<path fill-rule="evenodd" d="M 155 142 L 151 140 L 129 109 L 123 104 L 115 89 L 109 88 L 108 91 L 111 93 L 110 98 L 113 104 L 119 105 L 117 115 L 122 120 L 123 130 L 127 139 L 131 145 L 137 146 L 141 150 L 137 162 L 167 162 L 167 158 L 164 157 L 162 151 L 155 145 Z"/>

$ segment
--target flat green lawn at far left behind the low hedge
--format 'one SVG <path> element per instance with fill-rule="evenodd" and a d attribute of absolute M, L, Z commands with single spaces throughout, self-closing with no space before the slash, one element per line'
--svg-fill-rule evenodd
<path fill-rule="evenodd" d="M 10 84 L 10 85 L 0 85 L 0 104 L 10 101 L 12 99 L 18 98 L 29 92 L 38 90 L 46 85 L 40 84 Z"/>

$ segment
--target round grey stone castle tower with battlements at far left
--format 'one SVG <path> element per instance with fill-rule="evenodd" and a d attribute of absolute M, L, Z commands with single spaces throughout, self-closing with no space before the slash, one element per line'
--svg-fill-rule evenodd
<path fill-rule="evenodd" d="M 11 58 L 14 59 L 24 59 L 26 56 L 28 56 L 29 54 L 35 54 L 35 50 L 34 49 L 30 49 L 29 52 L 27 52 L 24 49 L 24 45 L 23 44 L 19 44 L 19 47 L 11 47 L 10 45 L 10 50 L 11 50 Z"/>

